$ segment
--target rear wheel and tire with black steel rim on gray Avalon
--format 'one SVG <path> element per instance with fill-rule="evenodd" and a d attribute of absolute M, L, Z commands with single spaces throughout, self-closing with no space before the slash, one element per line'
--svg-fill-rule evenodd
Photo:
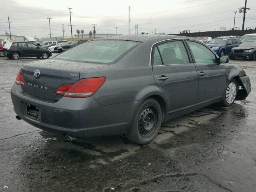
<path fill-rule="evenodd" d="M 126 135 L 131 142 L 144 145 L 156 137 L 162 122 L 160 104 L 153 98 L 144 100 L 136 111 L 130 132 Z"/>

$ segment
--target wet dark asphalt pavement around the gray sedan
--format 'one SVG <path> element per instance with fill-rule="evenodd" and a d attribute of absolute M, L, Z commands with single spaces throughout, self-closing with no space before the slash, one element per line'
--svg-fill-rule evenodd
<path fill-rule="evenodd" d="M 22 64 L 0 58 L 0 192 L 255 192 L 256 62 L 246 100 L 162 124 L 144 146 L 125 136 L 68 142 L 16 120 L 10 89 Z"/>

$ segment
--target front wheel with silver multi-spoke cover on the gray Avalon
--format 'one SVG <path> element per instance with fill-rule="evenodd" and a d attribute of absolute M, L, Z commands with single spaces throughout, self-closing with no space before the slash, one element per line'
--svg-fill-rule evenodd
<path fill-rule="evenodd" d="M 233 94 L 230 94 L 230 93 L 228 94 L 229 90 L 231 90 Z M 229 82 L 228 86 L 226 87 L 225 96 L 223 100 L 219 103 L 219 106 L 222 106 L 222 107 L 232 106 L 232 104 L 236 100 L 237 93 L 238 93 L 238 85 L 236 83 L 236 80 L 232 79 Z"/>

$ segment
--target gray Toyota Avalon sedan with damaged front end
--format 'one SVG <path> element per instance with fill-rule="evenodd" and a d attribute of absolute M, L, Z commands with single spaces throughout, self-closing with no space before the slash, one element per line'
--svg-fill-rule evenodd
<path fill-rule="evenodd" d="M 126 134 L 151 142 L 161 123 L 250 93 L 242 68 L 182 36 L 115 36 L 24 64 L 11 90 L 17 119 L 84 138 Z"/>

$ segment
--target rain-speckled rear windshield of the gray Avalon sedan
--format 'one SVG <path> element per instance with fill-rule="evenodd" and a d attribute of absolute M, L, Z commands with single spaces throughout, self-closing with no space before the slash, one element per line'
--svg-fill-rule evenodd
<path fill-rule="evenodd" d="M 94 40 L 80 44 L 54 57 L 92 63 L 111 63 L 132 50 L 139 42 L 123 40 Z"/>

